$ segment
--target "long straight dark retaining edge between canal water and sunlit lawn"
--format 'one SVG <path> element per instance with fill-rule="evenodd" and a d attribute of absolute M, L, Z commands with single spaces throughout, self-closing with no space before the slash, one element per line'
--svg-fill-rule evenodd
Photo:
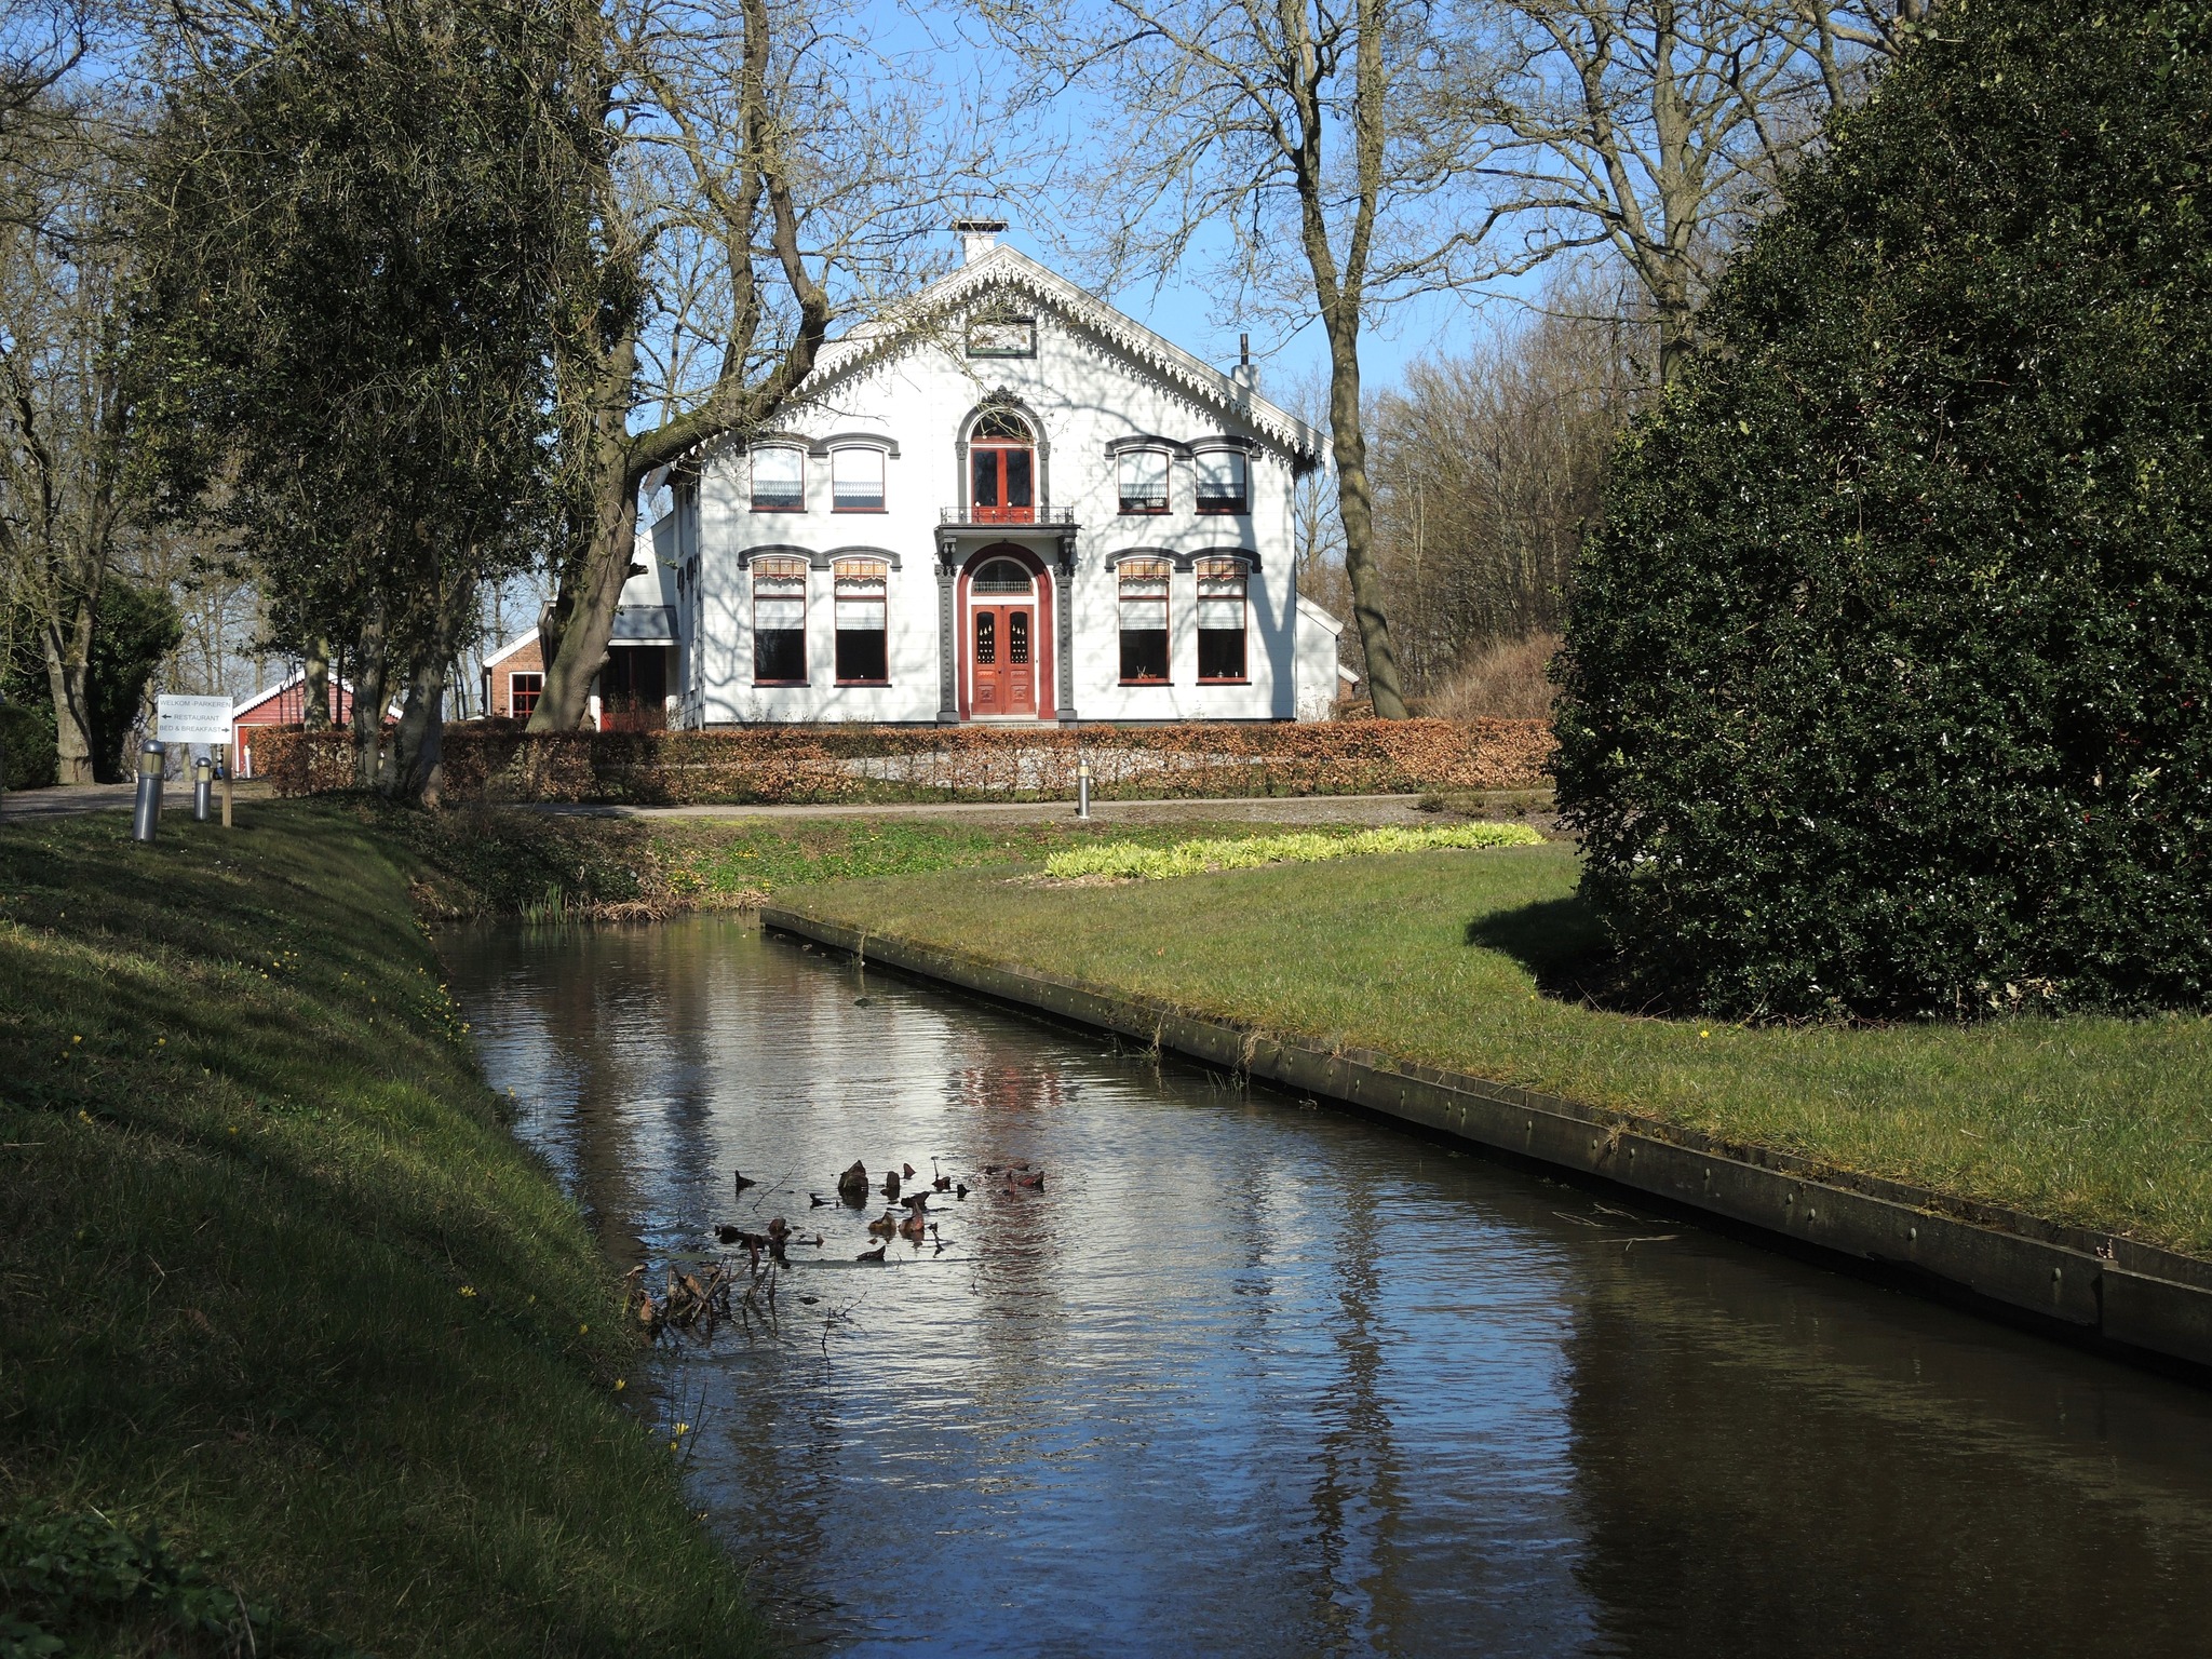
<path fill-rule="evenodd" d="M 2212 1380 L 2212 1261 L 1699 1130 L 1418 1066 L 1327 1051 L 1166 1002 L 1057 980 L 765 905 L 761 927 L 995 1002 L 1110 1031 L 1301 1095 L 1641 1192 L 1798 1252 Z"/>

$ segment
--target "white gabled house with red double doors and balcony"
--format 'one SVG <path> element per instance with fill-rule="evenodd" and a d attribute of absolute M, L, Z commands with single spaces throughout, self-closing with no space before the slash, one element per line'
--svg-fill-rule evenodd
<path fill-rule="evenodd" d="M 1325 717 L 1343 626 L 1301 604 L 1292 533 L 1321 434 L 1004 226 L 956 228 L 960 270 L 832 341 L 770 429 L 657 480 L 602 701 L 681 726 Z"/>

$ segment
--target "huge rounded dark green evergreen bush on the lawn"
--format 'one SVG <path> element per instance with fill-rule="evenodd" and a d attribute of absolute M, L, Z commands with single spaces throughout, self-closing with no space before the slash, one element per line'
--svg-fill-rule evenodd
<path fill-rule="evenodd" d="M 1564 816 L 1641 995 L 2212 987 L 2212 0 L 1955 0 L 1615 456 Z"/>

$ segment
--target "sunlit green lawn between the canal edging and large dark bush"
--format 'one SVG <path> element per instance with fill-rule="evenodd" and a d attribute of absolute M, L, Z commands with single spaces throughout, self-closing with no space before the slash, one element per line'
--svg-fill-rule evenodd
<path fill-rule="evenodd" d="M 1604 1013 L 1540 991 L 1593 940 L 1575 874 L 1575 849 L 1548 843 L 1121 885 L 964 869 L 785 902 L 2212 1254 L 2212 1022 L 1736 1029 Z"/>

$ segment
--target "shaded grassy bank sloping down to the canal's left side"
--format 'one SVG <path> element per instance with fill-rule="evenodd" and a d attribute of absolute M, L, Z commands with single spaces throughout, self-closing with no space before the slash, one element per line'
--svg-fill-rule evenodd
<path fill-rule="evenodd" d="M 241 823 L 0 830 L 0 1641 L 754 1650 L 438 987 L 445 878 L 352 810 Z"/>

